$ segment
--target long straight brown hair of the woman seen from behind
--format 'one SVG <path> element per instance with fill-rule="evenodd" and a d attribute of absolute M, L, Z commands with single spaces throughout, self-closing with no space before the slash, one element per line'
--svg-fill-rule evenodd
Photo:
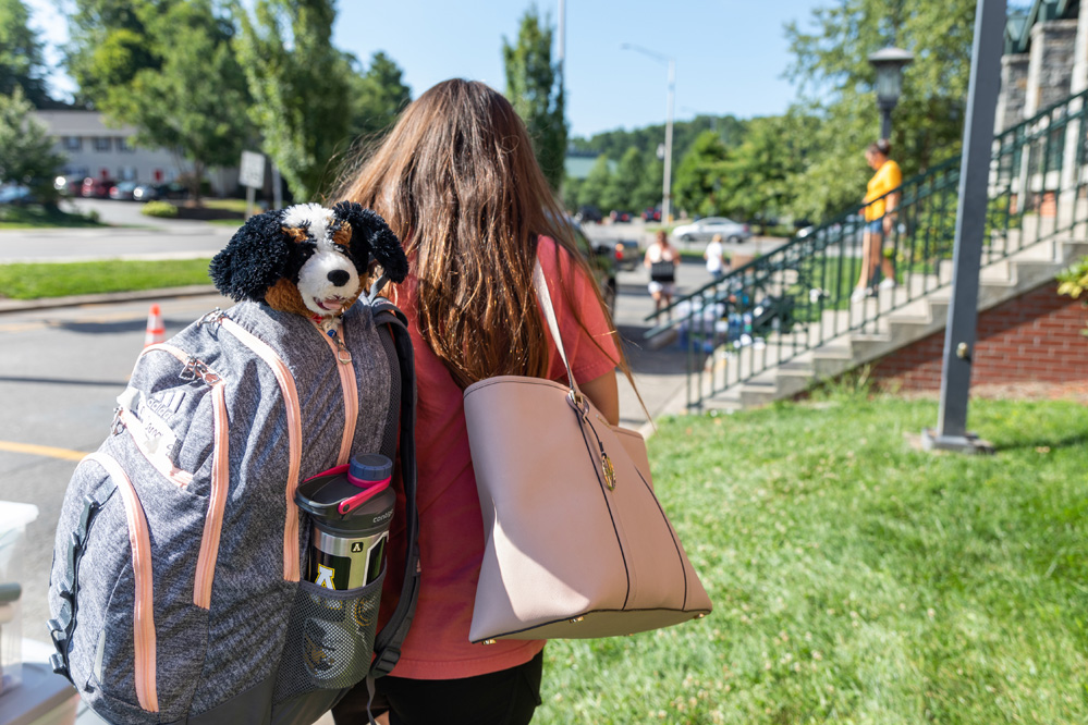
<path fill-rule="evenodd" d="M 592 275 L 525 124 L 501 94 L 460 78 L 433 86 L 346 171 L 335 196 L 374 209 L 404 239 L 420 333 L 461 388 L 500 374 L 547 376 L 533 288 L 537 235 Z"/>

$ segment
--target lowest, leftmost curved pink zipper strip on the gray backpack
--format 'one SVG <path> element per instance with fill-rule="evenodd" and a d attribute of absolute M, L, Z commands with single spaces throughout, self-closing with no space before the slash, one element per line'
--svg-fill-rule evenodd
<path fill-rule="evenodd" d="M 136 699 L 147 712 L 159 711 L 159 696 L 155 686 L 155 595 L 151 575 L 151 537 L 140 506 L 139 496 L 129 476 L 113 457 L 91 453 L 83 462 L 94 460 L 106 469 L 117 483 L 129 521 L 129 543 L 132 548 L 133 587 L 133 653 Z M 81 462 L 81 463 L 83 463 Z"/>

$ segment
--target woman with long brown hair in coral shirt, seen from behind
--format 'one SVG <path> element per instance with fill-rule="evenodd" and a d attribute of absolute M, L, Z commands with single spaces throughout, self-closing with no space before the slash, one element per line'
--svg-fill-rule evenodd
<path fill-rule="evenodd" d="M 614 425 L 614 370 L 626 367 L 612 321 L 525 125 L 482 83 L 445 81 L 423 94 L 337 197 L 381 214 L 411 265 L 394 300 L 415 345 L 421 580 L 375 705 L 394 725 L 527 723 L 540 701 L 543 642 L 468 641 L 485 542 L 462 395 L 501 374 L 565 381 L 534 292 L 539 263 L 574 376 Z M 396 520 L 394 537 L 403 534 Z M 387 591 L 400 591 L 400 570 L 390 561 Z M 358 722 L 366 699 L 356 688 L 334 710 L 337 722 Z"/>

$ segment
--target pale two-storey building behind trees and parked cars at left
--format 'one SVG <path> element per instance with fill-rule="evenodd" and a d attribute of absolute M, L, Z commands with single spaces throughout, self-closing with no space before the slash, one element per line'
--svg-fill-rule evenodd
<path fill-rule="evenodd" d="M 34 116 L 54 139 L 64 159 L 60 173 L 117 181 L 171 182 L 190 167 L 166 149 L 135 146 L 136 130 L 106 125 L 97 111 L 35 111 Z M 212 194 L 227 196 L 237 187 L 236 169 L 209 169 Z"/>

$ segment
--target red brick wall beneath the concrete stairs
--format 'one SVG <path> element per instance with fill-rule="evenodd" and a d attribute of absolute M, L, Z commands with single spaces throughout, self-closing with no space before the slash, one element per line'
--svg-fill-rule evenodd
<path fill-rule="evenodd" d="M 1048 282 L 979 315 L 971 384 L 1088 380 L 1088 324 L 1083 299 L 1059 296 Z M 900 390 L 940 390 L 944 331 L 879 360 L 872 379 Z"/>

